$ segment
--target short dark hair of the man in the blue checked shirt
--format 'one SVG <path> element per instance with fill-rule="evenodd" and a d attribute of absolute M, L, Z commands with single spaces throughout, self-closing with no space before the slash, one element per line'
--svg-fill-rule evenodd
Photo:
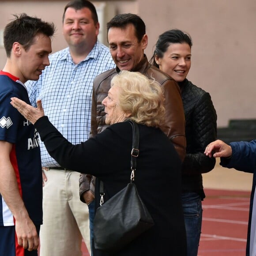
<path fill-rule="evenodd" d="M 62 16 L 62 23 L 64 23 L 65 13 L 68 8 L 73 8 L 76 11 L 83 8 L 88 8 L 91 11 L 91 17 L 94 20 L 94 24 L 98 23 L 98 15 L 95 6 L 87 0 L 72 0 L 64 8 L 64 13 Z"/>

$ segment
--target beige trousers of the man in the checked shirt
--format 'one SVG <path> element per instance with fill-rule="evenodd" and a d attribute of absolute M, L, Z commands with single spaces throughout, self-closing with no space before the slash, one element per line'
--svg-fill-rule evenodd
<path fill-rule="evenodd" d="M 79 173 L 49 169 L 45 175 L 40 256 L 81 256 L 82 237 L 90 252 L 89 211 L 79 199 Z"/>

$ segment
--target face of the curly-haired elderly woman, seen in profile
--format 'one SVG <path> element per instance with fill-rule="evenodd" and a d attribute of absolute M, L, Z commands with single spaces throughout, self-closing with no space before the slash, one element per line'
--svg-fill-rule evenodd
<path fill-rule="evenodd" d="M 124 111 L 118 104 L 119 90 L 120 88 L 117 86 L 111 87 L 108 96 L 102 101 L 106 113 L 105 123 L 108 125 L 123 122 L 126 119 Z"/>

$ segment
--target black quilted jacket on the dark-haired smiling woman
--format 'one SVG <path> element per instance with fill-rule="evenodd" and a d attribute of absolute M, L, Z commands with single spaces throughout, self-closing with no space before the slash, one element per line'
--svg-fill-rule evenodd
<path fill-rule="evenodd" d="M 179 83 L 186 120 L 186 156 L 182 168 L 183 192 L 198 192 L 202 199 L 201 173 L 211 171 L 215 158 L 203 154 L 207 144 L 216 139 L 217 115 L 209 93 L 185 79 Z"/>

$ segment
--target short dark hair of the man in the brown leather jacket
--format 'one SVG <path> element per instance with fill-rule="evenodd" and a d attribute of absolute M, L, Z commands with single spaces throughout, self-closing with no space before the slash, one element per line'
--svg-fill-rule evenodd
<path fill-rule="evenodd" d="M 107 23 L 107 31 L 111 27 L 118 27 L 124 29 L 128 24 L 132 24 L 135 27 L 136 38 L 140 42 L 146 34 L 146 26 L 143 20 L 136 14 L 125 13 L 116 15 Z"/>

